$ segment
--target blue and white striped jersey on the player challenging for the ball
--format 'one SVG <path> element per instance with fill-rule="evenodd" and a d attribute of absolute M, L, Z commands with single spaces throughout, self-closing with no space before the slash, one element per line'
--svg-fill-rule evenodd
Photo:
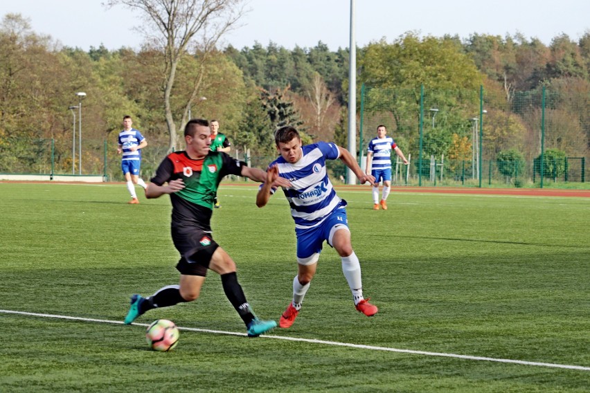
<path fill-rule="evenodd" d="M 294 164 L 287 163 L 280 156 L 269 165 L 278 165 L 278 175 L 291 183 L 291 188 L 283 188 L 283 192 L 291 205 L 295 228 L 299 229 L 318 225 L 342 203 L 325 167 L 326 160 L 340 157 L 337 145 L 318 142 L 302 149 L 303 156 Z M 274 193 L 276 189 L 271 191 Z"/>

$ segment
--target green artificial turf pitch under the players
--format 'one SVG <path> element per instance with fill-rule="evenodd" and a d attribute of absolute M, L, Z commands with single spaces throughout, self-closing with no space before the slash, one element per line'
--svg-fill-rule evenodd
<path fill-rule="evenodd" d="M 355 311 L 326 245 L 293 327 L 249 339 L 213 272 L 197 301 L 120 323 L 129 295 L 178 282 L 168 197 L 0 183 L 0 309 L 19 312 L 0 312 L 0 392 L 588 391 L 589 199 L 394 191 L 375 211 L 370 188 L 338 192 L 379 313 Z M 287 201 L 258 209 L 253 185 L 219 197 L 215 240 L 278 320 L 296 274 Z M 158 318 L 181 328 L 174 351 L 147 347 Z"/>

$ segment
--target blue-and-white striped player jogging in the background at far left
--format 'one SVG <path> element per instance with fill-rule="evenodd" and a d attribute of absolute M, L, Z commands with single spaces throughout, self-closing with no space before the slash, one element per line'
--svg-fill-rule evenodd
<path fill-rule="evenodd" d="M 132 128 L 133 121 L 131 116 L 123 116 L 123 131 L 118 136 L 117 153 L 123 154 L 121 158 L 121 170 L 127 182 L 127 190 L 131 194 L 129 203 L 139 203 L 135 193 L 135 185 L 141 185 L 143 189 L 147 188 L 145 182 L 139 177 L 141 169 L 141 149 L 147 146 L 147 140 L 141 135 L 138 129 Z"/>

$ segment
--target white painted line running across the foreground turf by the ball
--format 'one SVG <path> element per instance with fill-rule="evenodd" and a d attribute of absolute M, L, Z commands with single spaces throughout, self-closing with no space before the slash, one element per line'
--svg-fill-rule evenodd
<path fill-rule="evenodd" d="M 58 316 L 55 314 L 43 314 L 43 313 L 28 313 L 26 311 L 12 311 L 12 310 L 1 310 L 0 313 L 7 313 L 7 314 L 18 314 L 22 316 L 35 316 L 35 317 L 45 317 L 45 318 L 59 318 L 64 320 L 78 320 L 82 322 L 100 322 L 100 323 L 111 323 L 116 325 L 125 325 L 121 321 L 116 320 L 100 320 L 100 319 L 93 319 L 93 318 L 79 318 L 79 317 L 71 317 L 71 316 Z M 132 325 L 136 326 L 145 326 L 147 324 L 140 324 L 134 323 Z M 231 336 L 246 336 L 246 333 L 238 333 L 235 331 L 222 331 L 222 330 L 211 330 L 211 329 L 197 329 L 192 327 L 179 327 L 180 330 L 186 331 L 197 331 L 202 333 L 215 333 L 215 334 L 226 334 Z M 445 358 L 458 358 L 458 359 L 467 359 L 467 360 L 484 360 L 488 362 L 497 362 L 497 363 L 512 363 L 517 365 L 528 365 L 528 366 L 539 366 L 539 367 L 552 367 L 552 368 L 560 368 L 560 369 L 577 369 L 582 371 L 590 371 L 590 367 L 584 366 L 576 366 L 576 365 L 560 365 L 557 363 L 539 363 L 539 362 L 528 362 L 526 360 L 513 360 L 513 359 L 501 359 L 501 358 L 487 358 L 485 356 L 470 356 L 470 355 L 459 355 L 459 354 L 446 354 L 444 352 L 429 352 L 429 351 L 413 351 L 412 349 L 397 349 L 397 348 L 389 348 L 389 347 L 375 347 L 374 345 L 361 345 L 361 344 L 351 344 L 348 342 L 337 342 L 337 341 L 326 341 L 326 340 L 315 340 L 310 338 L 296 338 L 296 337 L 287 337 L 287 336 L 260 336 L 260 338 L 274 338 L 278 340 L 288 340 L 288 341 L 298 341 L 298 342 L 310 342 L 312 344 L 323 344 L 323 345 L 337 345 L 339 347 L 350 347 L 350 348 L 358 348 L 358 349 L 370 349 L 373 351 L 388 351 L 388 352 L 397 352 L 400 354 L 412 354 L 412 355 L 424 355 L 424 356 L 440 356 Z"/>

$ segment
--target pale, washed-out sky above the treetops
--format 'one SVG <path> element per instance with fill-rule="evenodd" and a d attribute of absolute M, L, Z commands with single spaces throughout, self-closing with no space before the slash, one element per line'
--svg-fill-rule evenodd
<path fill-rule="evenodd" d="M 142 37 L 134 30 L 139 14 L 123 6 L 107 9 L 104 0 L 0 1 L 0 16 L 19 13 L 30 19 L 35 33 L 51 35 L 64 46 L 87 51 L 101 44 L 110 50 L 138 49 Z M 247 0 L 241 26 L 224 36 L 222 46 L 241 49 L 270 42 L 292 49 L 318 42 L 330 50 L 350 45 L 351 0 Z M 551 44 L 565 33 L 578 41 L 590 32 L 589 0 L 355 0 L 355 42 L 366 46 L 393 42 L 413 31 L 422 37 L 473 33 L 505 37 L 521 33 Z"/>

